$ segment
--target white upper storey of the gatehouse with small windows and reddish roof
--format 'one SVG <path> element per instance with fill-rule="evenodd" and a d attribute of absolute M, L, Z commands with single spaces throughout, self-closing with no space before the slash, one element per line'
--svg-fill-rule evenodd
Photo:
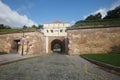
<path fill-rule="evenodd" d="M 45 36 L 67 36 L 66 28 L 69 26 L 69 23 L 60 21 L 43 24 L 43 33 Z"/>

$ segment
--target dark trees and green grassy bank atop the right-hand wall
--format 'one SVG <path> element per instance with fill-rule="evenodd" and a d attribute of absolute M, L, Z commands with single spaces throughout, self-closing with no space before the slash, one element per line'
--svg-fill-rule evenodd
<path fill-rule="evenodd" d="M 74 26 L 94 26 L 94 25 L 120 25 L 120 6 L 109 10 L 107 15 L 102 19 L 100 13 L 89 15 L 85 20 L 77 21 Z"/>

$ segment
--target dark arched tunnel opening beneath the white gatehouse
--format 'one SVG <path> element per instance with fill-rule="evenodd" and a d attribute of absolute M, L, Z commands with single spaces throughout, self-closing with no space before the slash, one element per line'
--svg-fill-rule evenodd
<path fill-rule="evenodd" d="M 55 39 L 51 42 L 51 50 L 53 52 L 63 53 L 64 46 L 65 46 L 65 44 L 63 43 L 63 41 L 61 41 L 59 39 Z"/>

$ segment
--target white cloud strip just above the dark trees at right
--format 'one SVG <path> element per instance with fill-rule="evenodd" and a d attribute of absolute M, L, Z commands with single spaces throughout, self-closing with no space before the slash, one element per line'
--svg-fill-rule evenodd
<path fill-rule="evenodd" d="M 95 12 L 93 12 L 93 13 L 90 13 L 90 14 L 88 14 L 88 15 L 85 15 L 84 16 L 84 19 L 86 18 L 86 17 L 88 17 L 89 15 L 94 15 L 94 14 L 97 14 L 97 13 L 101 13 L 101 15 L 102 15 L 102 18 L 104 18 L 106 15 L 107 15 L 107 11 L 109 11 L 109 10 L 113 10 L 114 8 L 116 8 L 117 6 L 120 6 L 120 0 L 118 0 L 117 2 L 115 2 L 115 3 L 113 3 L 112 5 L 111 5 L 111 8 L 109 8 L 109 9 L 107 9 L 107 8 L 100 8 L 100 9 L 98 9 L 97 11 L 95 11 Z"/>

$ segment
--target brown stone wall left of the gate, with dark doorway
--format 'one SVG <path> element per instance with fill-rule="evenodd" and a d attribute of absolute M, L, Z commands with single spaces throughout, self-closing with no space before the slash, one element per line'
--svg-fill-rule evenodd
<path fill-rule="evenodd" d="M 0 34 L 0 52 L 22 53 L 22 33 Z M 26 32 L 24 54 L 45 53 L 45 38 L 40 32 Z"/>

